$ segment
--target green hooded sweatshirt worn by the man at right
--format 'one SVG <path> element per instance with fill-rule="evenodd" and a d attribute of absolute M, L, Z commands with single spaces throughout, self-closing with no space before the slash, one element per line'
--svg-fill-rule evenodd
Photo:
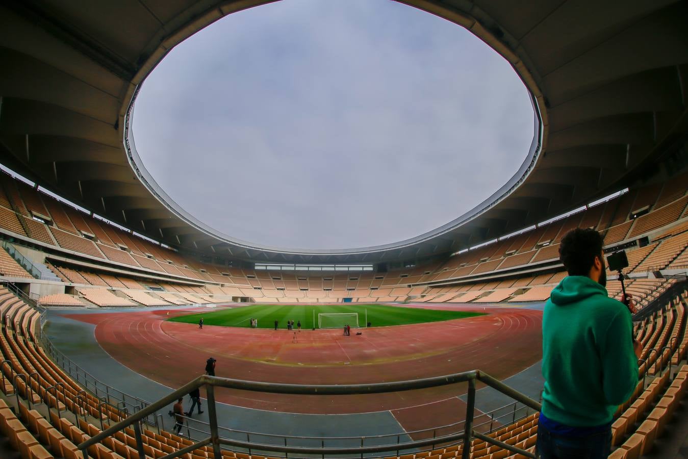
<path fill-rule="evenodd" d="M 612 422 L 638 383 L 631 314 L 585 276 L 565 277 L 542 318 L 542 413 L 571 427 Z"/>

